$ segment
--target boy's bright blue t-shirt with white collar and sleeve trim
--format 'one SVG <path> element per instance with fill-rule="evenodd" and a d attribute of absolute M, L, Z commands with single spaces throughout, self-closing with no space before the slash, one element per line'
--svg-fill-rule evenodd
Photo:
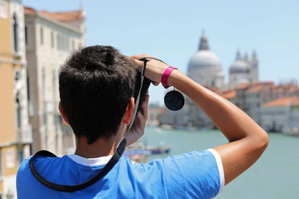
<path fill-rule="evenodd" d="M 34 165 L 52 183 L 76 185 L 92 178 L 110 158 L 86 159 L 74 154 L 37 157 Z M 29 159 L 17 172 L 18 199 L 211 199 L 224 187 L 222 162 L 213 149 L 156 159 L 149 164 L 133 164 L 122 156 L 104 178 L 74 193 L 57 192 L 39 183 L 30 172 Z"/>

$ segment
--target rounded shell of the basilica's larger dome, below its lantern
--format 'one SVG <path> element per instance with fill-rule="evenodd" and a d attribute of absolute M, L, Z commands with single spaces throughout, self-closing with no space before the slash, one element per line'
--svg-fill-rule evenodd
<path fill-rule="evenodd" d="M 200 50 L 191 57 L 188 64 L 188 71 L 207 67 L 220 68 L 220 60 L 213 52 L 209 50 Z"/>

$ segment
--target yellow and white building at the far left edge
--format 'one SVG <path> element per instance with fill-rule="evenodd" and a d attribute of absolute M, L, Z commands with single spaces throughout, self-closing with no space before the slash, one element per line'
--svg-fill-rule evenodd
<path fill-rule="evenodd" d="M 24 9 L 0 0 L 0 198 L 16 199 L 19 164 L 30 155 Z"/>

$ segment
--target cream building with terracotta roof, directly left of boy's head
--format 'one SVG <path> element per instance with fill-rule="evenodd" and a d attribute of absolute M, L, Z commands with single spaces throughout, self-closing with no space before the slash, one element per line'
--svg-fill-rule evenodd
<path fill-rule="evenodd" d="M 49 12 L 25 7 L 33 153 L 42 149 L 58 156 L 74 152 L 74 135 L 58 110 L 58 73 L 70 52 L 85 46 L 85 15 L 82 9 Z"/>

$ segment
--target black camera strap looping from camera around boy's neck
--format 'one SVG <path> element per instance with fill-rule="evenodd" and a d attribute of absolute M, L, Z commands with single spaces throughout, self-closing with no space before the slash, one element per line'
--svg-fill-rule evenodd
<path fill-rule="evenodd" d="M 29 167 L 30 167 L 30 171 L 33 174 L 33 176 L 44 186 L 58 191 L 58 192 L 77 192 L 80 190 L 83 190 L 91 185 L 93 185 L 94 183 L 96 183 L 98 180 L 100 180 L 101 178 L 103 178 L 106 174 L 108 174 L 108 172 L 117 164 L 117 162 L 119 161 L 119 159 L 121 158 L 121 156 L 123 155 L 125 149 L 126 149 L 126 145 L 127 145 L 127 136 L 129 134 L 129 131 L 134 123 L 135 120 L 135 116 L 137 113 L 137 108 L 138 108 L 138 103 L 139 103 L 139 99 L 140 99 L 140 93 L 142 90 L 142 85 L 143 85 L 143 80 L 144 80 L 144 76 L 145 76 L 145 70 L 146 70 L 146 65 L 147 62 L 149 61 L 147 58 L 149 59 L 155 59 L 158 60 L 156 58 L 153 57 L 144 57 L 141 58 L 140 61 L 143 61 L 143 66 L 142 66 L 142 75 L 141 75 L 141 87 L 140 87 L 140 91 L 139 91 L 139 95 L 136 99 L 136 103 L 135 103 L 135 107 L 133 110 L 133 116 L 132 116 L 132 120 L 129 124 L 129 127 L 127 129 L 127 134 L 125 137 L 123 137 L 123 139 L 120 141 L 119 145 L 116 148 L 116 151 L 114 152 L 112 158 L 109 160 L 109 162 L 103 167 L 103 169 L 101 169 L 99 171 L 99 173 L 97 173 L 93 178 L 91 178 L 90 180 L 82 183 L 82 184 L 78 184 L 78 185 L 57 185 L 54 183 L 51 183 L 49 181 L 47 181 L 46 179 L 44 179 L 36 170 L 33 161 L 34 158 L 36 156 L 45 156 L 45 157 L 57 157 L 56 155 L 54 155 L 53 153 L 49 152 L 49 151 L 45 151 L 45 150 L 41 150 L 38 151 L 37 153 L 35 153 L 29 160 Z M 158 60 L 161 61 L 161 60 Z M 161 61 L 162 62 L 162 61 Z M 164 62 L 163 62 L 164 63 Z"/>

